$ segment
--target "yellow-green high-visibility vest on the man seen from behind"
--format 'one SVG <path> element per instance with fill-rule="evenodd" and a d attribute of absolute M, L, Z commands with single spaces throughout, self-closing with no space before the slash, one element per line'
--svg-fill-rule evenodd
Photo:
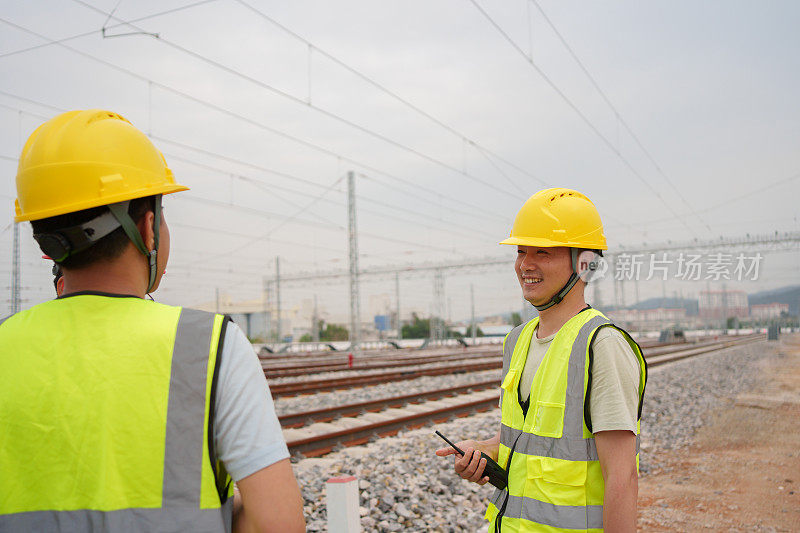
<path fill-rule="evenodd" d="M 213 442 L 228 320 L 80 294 L 0 323 L 0 532 L 230 531 Z"/>

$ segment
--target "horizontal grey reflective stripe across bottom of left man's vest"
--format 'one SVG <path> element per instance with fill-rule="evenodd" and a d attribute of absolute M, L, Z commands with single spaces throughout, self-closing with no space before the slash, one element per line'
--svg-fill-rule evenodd
<path fill-rule="evenodd" d="M 218 533 L 223 530 L 219 509 L 121 509 L 119 511 L 84 509 L 31 511 L 0 516 L 0 533 L 22 531 Z"/>

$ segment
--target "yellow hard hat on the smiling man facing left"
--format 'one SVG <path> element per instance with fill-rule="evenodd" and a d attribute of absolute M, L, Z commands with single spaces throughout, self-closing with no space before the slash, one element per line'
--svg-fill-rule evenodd
<path fill-rule="evenodd" d="M 500 244 L 608 250 L 603 222 L 591 200 L 572 189 L 545 189 L 517 213 L 511 235 Z"/>

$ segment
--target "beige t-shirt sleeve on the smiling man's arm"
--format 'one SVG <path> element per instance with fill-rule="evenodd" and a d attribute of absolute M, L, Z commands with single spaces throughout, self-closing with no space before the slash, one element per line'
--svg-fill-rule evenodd
<path fill-rule="evenodd" d="M 604 327 L 592 343 L 592 388 L 589 412 L 592 431 L 636 433 L 639 411 L 639 361 L 623 334 Z"/>

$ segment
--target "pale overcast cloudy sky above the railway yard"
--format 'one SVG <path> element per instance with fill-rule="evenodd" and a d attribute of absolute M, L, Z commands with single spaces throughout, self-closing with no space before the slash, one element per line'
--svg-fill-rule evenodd
<path fill-rule="evenodd" d="M 508 258 L 448 275 L 452 318 L 470 285 L 479 314 L 519 308 L 496 243 L 544 187 L 592 198 L 612 249 L 797 232 L 798 20 L 789 1 L 2 1 L 0 289 L 19 150 L 69 109 L 121 113 L 191 188 L 165 200 L 166 303 L 261 298 L 278 256 L 346 269 L 348 171 L 363 268 Z M 20 230 L 27 307 L 52 286 Z M 797 260 L 768 255 L 745 290 L 796 283 Z M 427 274 L 402 287 L 431 309 Z M 347 308 L 345 279 L 284 290 Z M 363 291 L 366 314 L 394 279 Z"/>

